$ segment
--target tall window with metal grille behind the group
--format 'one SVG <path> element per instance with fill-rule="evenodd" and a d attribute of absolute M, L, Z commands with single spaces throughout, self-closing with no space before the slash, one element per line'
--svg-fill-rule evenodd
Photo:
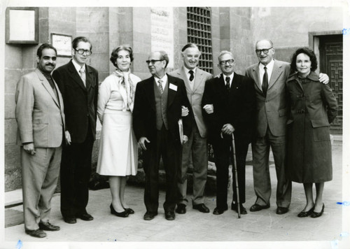
<path fill-rule="evenodd" d="M 187 7 L 187 39 L 188 43 L 195 43 L 202 52 L 199 67 L 213 73 L 210 8 Z"/>

